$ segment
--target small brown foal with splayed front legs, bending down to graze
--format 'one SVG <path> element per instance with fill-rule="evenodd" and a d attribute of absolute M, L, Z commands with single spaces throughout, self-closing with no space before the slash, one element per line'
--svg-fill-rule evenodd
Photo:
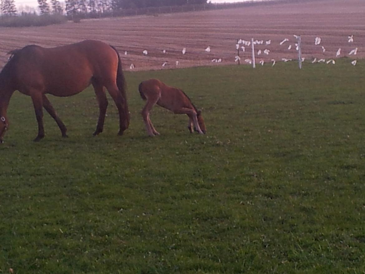
<path fill-rule="evenodd" d="M 139 84 L 138 90 L 141 98 L 147 100 L 145 107 L 142 109 L 142 117 L 149 136 L 160 135 L 150 120 L 150 111 L 154 104 L 171 110 L 175 114 L 187 114 L 189 116 L 188 129 L 190 132 L 193 132 L 193 124 L 194 129 L 200 134 L 207 132 L 201 111 L 196 109 L 182 90 L 170 87 L 157 79 L 143 81 Z"/>

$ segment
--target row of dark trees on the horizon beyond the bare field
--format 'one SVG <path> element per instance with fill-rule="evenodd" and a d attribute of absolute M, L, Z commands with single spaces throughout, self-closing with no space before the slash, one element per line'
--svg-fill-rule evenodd
<path fill-rule="evenodd" d="M 59 0 L 37 0 L 41 15 L 66 14 L 68 16 L 102 14 L 123 9 L 181 6 L 187 4 L 204 4 L 207 0 L 66 0 L 65 11 Z M 15 0 L 1 0 L 0 9 L 5 16 L 17 14 Z"/>

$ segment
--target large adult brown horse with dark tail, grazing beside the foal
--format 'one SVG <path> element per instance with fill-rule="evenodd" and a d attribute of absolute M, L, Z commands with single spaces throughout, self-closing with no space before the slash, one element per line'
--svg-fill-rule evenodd
<path fill-rule="evenodd" d="M 116 49 L 101 41 L 86 40 L 71 45 L 43 48 L 28 45 L 10 52 L 11 57 L 0 72 L 0 142 L 8 129 L 7 108 L 15 90 L 32 98 L 38 122 L 38 135 L 45 136 L 43 107 L 57 122 L 62 137 L 66 126 L 58 117 L 46 94 L 71 96 L 93 85 L 99 103 L 99 120 L 94 135 L 103 132 L 107 97 L 113 98 L 119 112 L 119 135 L 129 126 L 125 80 Z"/>

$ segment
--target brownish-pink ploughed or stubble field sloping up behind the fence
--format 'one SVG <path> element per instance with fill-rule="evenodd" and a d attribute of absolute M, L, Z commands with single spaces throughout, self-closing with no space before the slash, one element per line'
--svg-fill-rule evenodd
<path fill-rule="evenodd" d="M 45 47 L 66 45 L 84 39 L 98 39 L 114 45 L 123 66 L 130 70 L 166 69 L 201 65 L 234 64 L 237 39 L 264 40 L 256 45 L 256 62 L 297 58 L 296 39 L 301 35 L 303 57 L 307 60 L 365 56 L 364 0 L 318 0 L 304 3 L 276 3 L 204 12 L 89 19 L 46 27 L 0 27 L 0 66 L 9 50 L 28 44 Z M 348 36 L 354 41 L 349 43 Z M 315 45 L 315 38 L 322 38 Z M 289 41 L 280 45 L 283 39 Z M 271 40 L 270 45 L 265 41 Z M 292 49 L 288 49 L 292 45 Z M 210 46 L 211 52 L 205 52 Z M 322 46 L 326 49 L 322 50 Z M 349 52 L 358 48 L 357 55 Z M 186 53 L 182 50 L 186 48 Z M 268 55 L 264 49 L 269 49 Z M 147 50 L 147 56 L 143 55 Z M 163 50 L 166 52 L 163 53 Z M 124 54 L 127 52 L 127 54 Z M 240 53 L 241 62 L 250 58 L 251 49 Z M 221 63 L 211 60 L 221 58 Z M 176 65 L 178 61 L 178 65 Z M 162 64 L 166 62 L 163 67 Z"/>

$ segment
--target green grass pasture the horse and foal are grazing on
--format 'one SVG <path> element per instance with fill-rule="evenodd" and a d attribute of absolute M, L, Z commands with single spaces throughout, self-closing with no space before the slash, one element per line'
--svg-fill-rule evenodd
<path fill-rule="evenodd" d="M 37 135 L 13 96 L 0 146 L 0 273 L 365 273 L 365 62 L 126 73 L 131 125 L 104 132 L 91 89 L 51 102 Z M 140 81 L 183 88 L 208 133 Z"/>

